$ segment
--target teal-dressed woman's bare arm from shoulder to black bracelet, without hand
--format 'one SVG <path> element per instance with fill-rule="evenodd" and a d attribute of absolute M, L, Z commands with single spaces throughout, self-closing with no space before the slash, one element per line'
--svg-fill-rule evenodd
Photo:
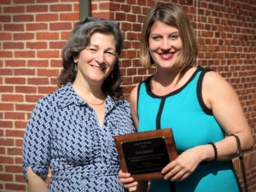
<path fill-rule="evenodd" d="M 202 84 L 203 100 L 212 109 L 214 117 L 224 131 L 236 134 L 241 140 L 241 149 L 253 147 L 253 135 L 241 108 L 236 91 L 218 73 L 206 73 Z M 227 160 L 236 154 L 235 137 L 226 137 L 215 143 L 218 148 L 218 160 Z"/>

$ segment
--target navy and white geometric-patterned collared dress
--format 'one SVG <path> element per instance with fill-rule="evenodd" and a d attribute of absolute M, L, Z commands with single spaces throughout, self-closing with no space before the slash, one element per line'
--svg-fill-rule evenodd
<path fill-rule="evenodd" d="M 23 140 L 23 174 L 31 166 L 44 179 L 51 170 L 49 191 L 125 191 L 119 183 L 119 158 L 113 136 L 135 132 L 129 102 L 106 98 L 105 118 L 68 83 L 38 101 Z"/>

